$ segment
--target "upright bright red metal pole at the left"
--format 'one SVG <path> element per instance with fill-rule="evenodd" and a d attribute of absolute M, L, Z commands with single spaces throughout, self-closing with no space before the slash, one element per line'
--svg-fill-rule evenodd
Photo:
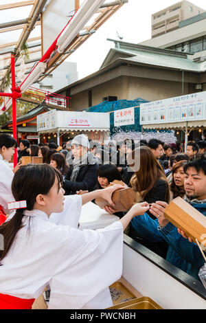
<path fill-rule="evenodd" d="M 11 54 L 11 72 L 12 72 L 12 95 L 16 91 L 16 78 L 15 78 L 15 54 Z M 13 122 L 13 137 L 17 141 L 16 131 L 16 98 L 12 97 L 12 122 Z M 17 149 L 14 150 L 14 167 L 17 164 Z"/>

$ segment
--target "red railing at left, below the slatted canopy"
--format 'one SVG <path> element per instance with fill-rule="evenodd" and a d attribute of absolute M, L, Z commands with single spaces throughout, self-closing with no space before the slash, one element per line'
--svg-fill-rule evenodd
<path fill-rule="evenodd" d="M 42 89 L 36 89 L 36 87 L 30 87 L 23 93 L 23 96 L 28 98 L 33 98 L 33 100 L 44 101 L 47 104 L 57 105 L 62 108 L 69 110 L 70 99 L 69 96 L 61 96 L 57 93 L 52 93 Z"/>

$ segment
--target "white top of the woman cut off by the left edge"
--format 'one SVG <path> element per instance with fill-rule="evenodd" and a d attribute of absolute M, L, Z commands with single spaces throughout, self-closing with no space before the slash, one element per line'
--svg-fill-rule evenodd
<path fill-rule="evenodd" d="M 15 201 L 11 188 L 13 177 L 14 173 L 0 154 L 0 205 L 7 214 L 10 213 L 8 202 Z"/>

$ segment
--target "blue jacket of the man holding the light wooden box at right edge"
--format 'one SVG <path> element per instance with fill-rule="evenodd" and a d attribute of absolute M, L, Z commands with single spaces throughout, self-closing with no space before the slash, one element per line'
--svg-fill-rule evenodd
<path fill-rule="evenodd" d="M 206 203 L 190 204 L 206 216 Z M 146 213 L 136 216 L 131 223 L 142 238 L 153 243 L 166 241 L 169 246 L 166 260 L 199 280 L 198 271 L 205 261 L 196 243 L 183 238 L 170 222 L 159 228 L 158 220 L 152 220 Z"/>

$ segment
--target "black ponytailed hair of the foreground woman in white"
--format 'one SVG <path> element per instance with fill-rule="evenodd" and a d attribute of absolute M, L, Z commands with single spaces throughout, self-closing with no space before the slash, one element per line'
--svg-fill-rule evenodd
<path fill-rule="evenodd" d="M 26 201 L 26 210 L 33 210 L 38 194 L 48 194 L 54 185 L 55 179 L 62 182 L 62 175 L 58 170 L 47 164 L 29 164 L 21 166 L 14 174 L 12 180 L 12 194 L 15 201 Z M 3 236 L 4 249 L 0 250 L 0 260 L 8 253 L 17 232 L 23 227 L 22 218 L 25 209 L 18 209 L 9 221 L 0 226 Z"/>

